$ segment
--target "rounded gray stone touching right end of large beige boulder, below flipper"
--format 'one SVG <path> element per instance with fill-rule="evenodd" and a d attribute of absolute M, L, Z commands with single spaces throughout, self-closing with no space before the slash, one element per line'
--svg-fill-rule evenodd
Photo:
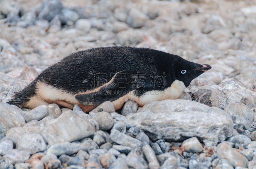
<path fill-rule="evenodd" d="M 113 117 L 105 111 L 96 113 L 92 119 L 99 123 L 99 130 L 109 130 L 114 125 Z"/>

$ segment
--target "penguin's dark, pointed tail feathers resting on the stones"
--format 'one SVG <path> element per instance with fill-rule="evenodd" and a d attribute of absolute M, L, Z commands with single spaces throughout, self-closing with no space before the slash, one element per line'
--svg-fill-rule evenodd
<path fill-rule="evenodd" d="M 7 103 L 16 105 L 18 107 L 28 107 L 27 103 L 30 98 L 36 95 L 36 81 L 33 81 L 28 86 L 23 88 L 21 91 L 15 92 Z M 29 107 L 28 107 L 29 108 Z"/>

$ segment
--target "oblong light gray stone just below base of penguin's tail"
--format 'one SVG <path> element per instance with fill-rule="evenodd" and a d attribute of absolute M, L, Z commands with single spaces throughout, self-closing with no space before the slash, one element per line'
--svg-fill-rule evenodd
<path fill-rule="evenodd" d="M 25 113 L 25 120 L 29 122 L 31 120 L 42 120 L 45 116 L 49 115 L 49 109 L 46 105 L 37 106 L 36 108 Z"/>

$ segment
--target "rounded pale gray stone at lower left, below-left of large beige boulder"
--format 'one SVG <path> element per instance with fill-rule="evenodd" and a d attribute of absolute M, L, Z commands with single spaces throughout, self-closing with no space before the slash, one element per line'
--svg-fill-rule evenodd
<path fill-rule="evenodd" d="M 16 148 L 18 150 L 28 151 L 30 154 L 35 154 L 46 149 L 46 144 L 40 134 L 23 134 L 17 141 Z"/>

